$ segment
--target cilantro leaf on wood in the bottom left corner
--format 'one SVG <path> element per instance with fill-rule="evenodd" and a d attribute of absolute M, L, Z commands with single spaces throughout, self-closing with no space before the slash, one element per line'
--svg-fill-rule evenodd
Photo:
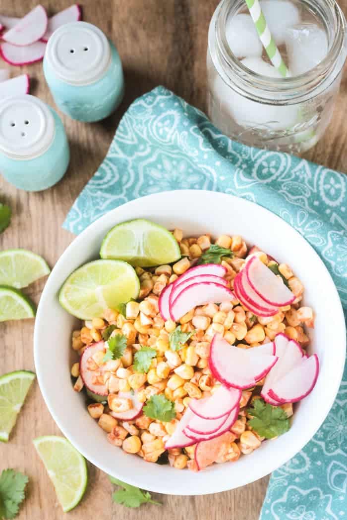
<path fill-rule="evenodd" d="M 0 476 L 0 518 L 15 518 L 24 500 L 28 477 L 15 470 L 4 470 Z"/>

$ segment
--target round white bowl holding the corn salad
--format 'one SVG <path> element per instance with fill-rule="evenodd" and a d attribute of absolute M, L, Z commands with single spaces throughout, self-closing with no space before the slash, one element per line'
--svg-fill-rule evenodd
<path fill-rule="evenodd" d="M 186 236 L 205 232 L 242 235 L 280 262 L 288 263 L 305 286 L 305 304 L 316 326 L 310 353 L 319 356 L 314 391 L 296 408 L 290 431 L 268 440 L 236 463 L 213 464 L 200 473 L 150 464 L 111 446 L 89 416 L 84 397 L 72 390 L 71 332 L 76 320 L 58 303 L 58 292 L 77 267 L 98 257 L 102 238 L 124 220 L 144 217 Z M 342 307 L 330 275 L 311 245 L 284 220 L 247 200 L 211 191 L 170 191 L 128 202 L 110 211 L 77 237 L 50 275 L 38 306 L 34 355 L 38 382 L 62 433 L 93 464 L 143 489 L 169 495 L 204 495 L 249 484 L 293 457 L 323 423 L 338 392 L 345 358 Z M 49 433 L 49 432 L 47 432 Z"/>

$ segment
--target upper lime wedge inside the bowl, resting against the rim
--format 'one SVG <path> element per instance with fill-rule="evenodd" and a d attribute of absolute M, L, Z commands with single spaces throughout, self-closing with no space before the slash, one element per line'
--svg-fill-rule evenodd
<path fill-rule="evenodd" d="M 151 267 L 181 258 L 177 240 L 166 228 L 143 218 L 112 228 L 104 238 L 101 258 L 117 258 L 131 265 Z"/>

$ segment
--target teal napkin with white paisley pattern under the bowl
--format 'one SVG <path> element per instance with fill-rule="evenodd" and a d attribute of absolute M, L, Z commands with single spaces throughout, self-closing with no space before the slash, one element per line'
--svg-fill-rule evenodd
<path fill-rule="evenodd" d="M 347 175 L 286 153 L 230 140 L 164 87 L 137 99 L 107 157 L 69 212 L 80 233 L 125 202 L 164 190 L 208 189 L 256 202 L 284 218 L 323 258 L 347 313 Z M 347 517 L 347 369 L 322 428 L 275 471 L 262 520 Z"/>

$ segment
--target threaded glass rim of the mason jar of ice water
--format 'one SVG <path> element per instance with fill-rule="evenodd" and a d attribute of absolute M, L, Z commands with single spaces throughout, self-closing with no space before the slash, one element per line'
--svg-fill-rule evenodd
<path fill-rule="evenodd" d="M 210 52 L 210 54 L 222 79 L 239 94 L 258 102 L 269 100 L 271 103 L 279 105 L 282 103 L 297 103 L 306 98 L 312 99 L 313 90 L 316 90 L 315 96 L 328 88 L 340 73 L 345 61 L 344 53 L 341 62 L 339 62 L 344 48 L 346 21 L 336 0 L 326 0 L 324 5 L 325 9 L 329 9 L 329 15 L 335 19 L 336 24 L 332 31 L 333 39 L 327 55 L 313 69 L 298 76 L 286 78 L 258 74 L 248 69 L 232 53 L 226 40 L 225 25 L 230 14 L 230 4 L 233 2 L 237 5 L 237 0 L 236 2 L 235 0 L 222 0 L 215 10 L 210 30 L 212 29 L 215 36 L 219 63 L 216 63 L 213 53 Z M 306 3 L 309 2 L 312 2 L 312 0 L 306 0 Z M 235 8 L 234 14 L 236 14 L 237 9 Z M 209 32 L 209 48 L 210 44 L 211 33 Z"/>

